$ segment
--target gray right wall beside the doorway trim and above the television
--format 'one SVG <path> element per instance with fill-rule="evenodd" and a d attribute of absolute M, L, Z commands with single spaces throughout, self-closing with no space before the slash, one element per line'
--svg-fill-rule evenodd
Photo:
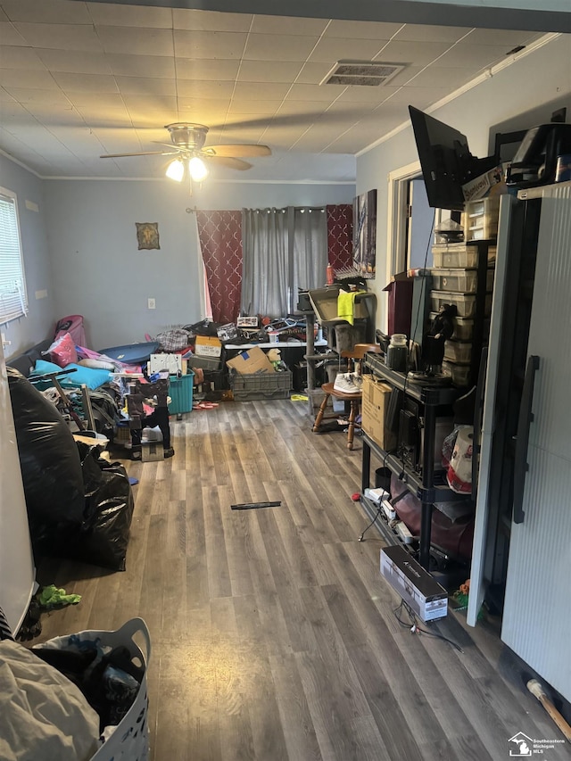
<path fill-rule="evenodd" d="M 484 157 L 496 131 L 549 121 L 560 106 L 567 106 L 567 121 L 571 120 L 570 61 L 571 37 L 558 37 L 430 113 L 459 129 L 468 137 L 471 153 Z M 410 125 L 357 159 L 357 193 L 377 187 L 377 278 L 370 284 L 378 300 L 377 327 L 386 326 L 387 294 L 382 288 L 393 274 L 387 266 L 388 175 L 414 161 L 418 152 Z"/>

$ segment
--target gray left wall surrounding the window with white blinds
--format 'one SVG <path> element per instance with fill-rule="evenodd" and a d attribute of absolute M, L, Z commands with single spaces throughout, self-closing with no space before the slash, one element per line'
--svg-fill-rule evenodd
<path fill-rule="evenodd" d="M 4 355 L 8 359 L 44 338 L 51 338 L 58 317 L 46 238 L 44 183 L 0 154 L 0 186 L 12 190 L 18 198 L 29 302 L 28 317 L 12 320 L 1 327 L 6 340 L 10 341 L 4 348 Z M 28 209 L 26 201 L 35 203 L 39 211 Z M 46 298 L 41 298 L 43 291 L 47 291 Z"/>

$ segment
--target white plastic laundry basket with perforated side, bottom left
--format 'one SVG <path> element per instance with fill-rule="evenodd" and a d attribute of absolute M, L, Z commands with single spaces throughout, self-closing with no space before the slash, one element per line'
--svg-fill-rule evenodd
<path fill-rule="evenodd" d="M 133 637 L 141 634 L 145 641 L 144 653 Z M 116 632 L 87 630 L 77 634 L 55 637 L 44 642 L 41 647 L 66 649 L 78 647 L 83 641 L 96 641 L 103 649 L 123 646 L 128 649 L 133 664 L 144 666 L 137 698 L 121 719 L 120 724 L 97 750 L 91 761 L 147 761 L 149 757 L 148 699 L 146 692 L 146 671 L 151 659 L 151 636 L 142 618 L 131 618 Z"/>

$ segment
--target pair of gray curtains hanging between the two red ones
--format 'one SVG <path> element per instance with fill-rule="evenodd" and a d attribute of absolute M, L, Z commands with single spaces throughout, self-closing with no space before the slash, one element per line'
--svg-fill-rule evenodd
<path fill-rule="evenodd" d="M 285 317 L 299 288 L 326 280 L 327 214 L 313 208 L 242 210 L 244 314 Z"/>

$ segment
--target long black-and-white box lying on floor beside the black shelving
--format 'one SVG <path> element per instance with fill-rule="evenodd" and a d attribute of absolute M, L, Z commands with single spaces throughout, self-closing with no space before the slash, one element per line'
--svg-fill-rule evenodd
<path fill-rule="evenodd" d="M 381 550 L 381 575 L 426 621 L 448 613 L 448 593 L 401 545 Z"/>

